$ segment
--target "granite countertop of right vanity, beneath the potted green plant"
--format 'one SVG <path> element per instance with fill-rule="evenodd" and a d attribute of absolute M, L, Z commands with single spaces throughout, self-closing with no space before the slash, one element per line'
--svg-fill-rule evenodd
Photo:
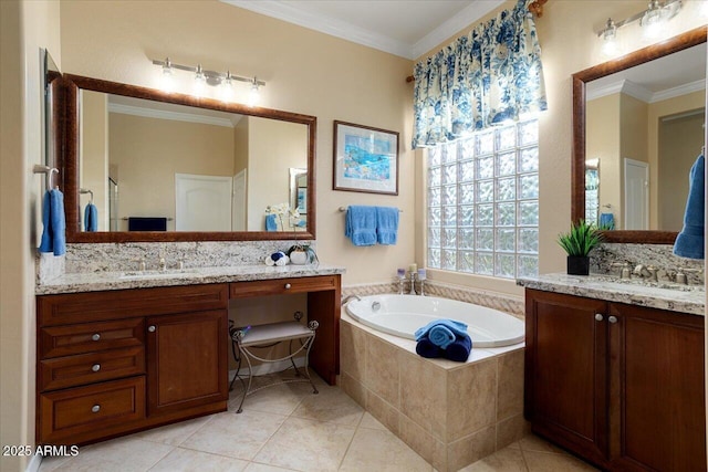
<path fill-rule="evenodd" d="M 545 292 L 641 305 L 705 316 L 706 291 L 701 285 L 621 280 L 605 274 L 543 274 L 517 280 L 517 285 Z"/>

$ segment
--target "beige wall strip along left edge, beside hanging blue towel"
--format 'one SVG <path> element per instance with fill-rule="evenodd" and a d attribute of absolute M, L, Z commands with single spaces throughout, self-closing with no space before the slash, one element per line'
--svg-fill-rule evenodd
<path fill-rule="evenodd" d="M 44 179 L 40 46 L 62 65 L 59 3 L 0 1 L 0 444 L 34 443 L 34 256 Z M 0 455 L 0 470 L 28 458 Z"/>

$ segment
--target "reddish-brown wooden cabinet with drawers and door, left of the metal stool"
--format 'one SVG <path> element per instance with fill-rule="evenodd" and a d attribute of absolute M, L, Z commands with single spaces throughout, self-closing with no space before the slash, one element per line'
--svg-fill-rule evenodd
<path fill-rule="evenodd" d="M 37 302 L 38 444 L 94 442 L 227 409 L 227 284 Z"/>

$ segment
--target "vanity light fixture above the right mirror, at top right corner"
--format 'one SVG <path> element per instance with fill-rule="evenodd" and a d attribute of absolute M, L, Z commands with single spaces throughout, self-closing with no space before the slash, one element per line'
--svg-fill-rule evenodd
<path fill-rule="evenodd" d="M 597 36 L 603 41 L 603 52 L 607 55 L 614 55 L 617 52 L 617 30 L 635 21 L 639 21 L 639 25 L 644 29 L 645 36 L 656 38 L 660 34 L 664 23 L 676 17 L 681 7 L 681 0 L 665 0 L 663 2 L 659 0 L 650 0 L 646 10 L 622 21 L 614 21 L 612 18 L 608 18 L 605 28 L 597 32 Z"/>

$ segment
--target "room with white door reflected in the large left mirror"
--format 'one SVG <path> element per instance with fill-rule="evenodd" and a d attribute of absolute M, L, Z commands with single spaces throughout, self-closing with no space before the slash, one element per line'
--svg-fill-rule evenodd
<path fill-rule="evenodd" d="M 299 123 L 93 91 L 80 102 L 80 186 L 97 231 L 262 231 L 266 208 L 290 197 L 274 176 L 306 176 Z"/>

